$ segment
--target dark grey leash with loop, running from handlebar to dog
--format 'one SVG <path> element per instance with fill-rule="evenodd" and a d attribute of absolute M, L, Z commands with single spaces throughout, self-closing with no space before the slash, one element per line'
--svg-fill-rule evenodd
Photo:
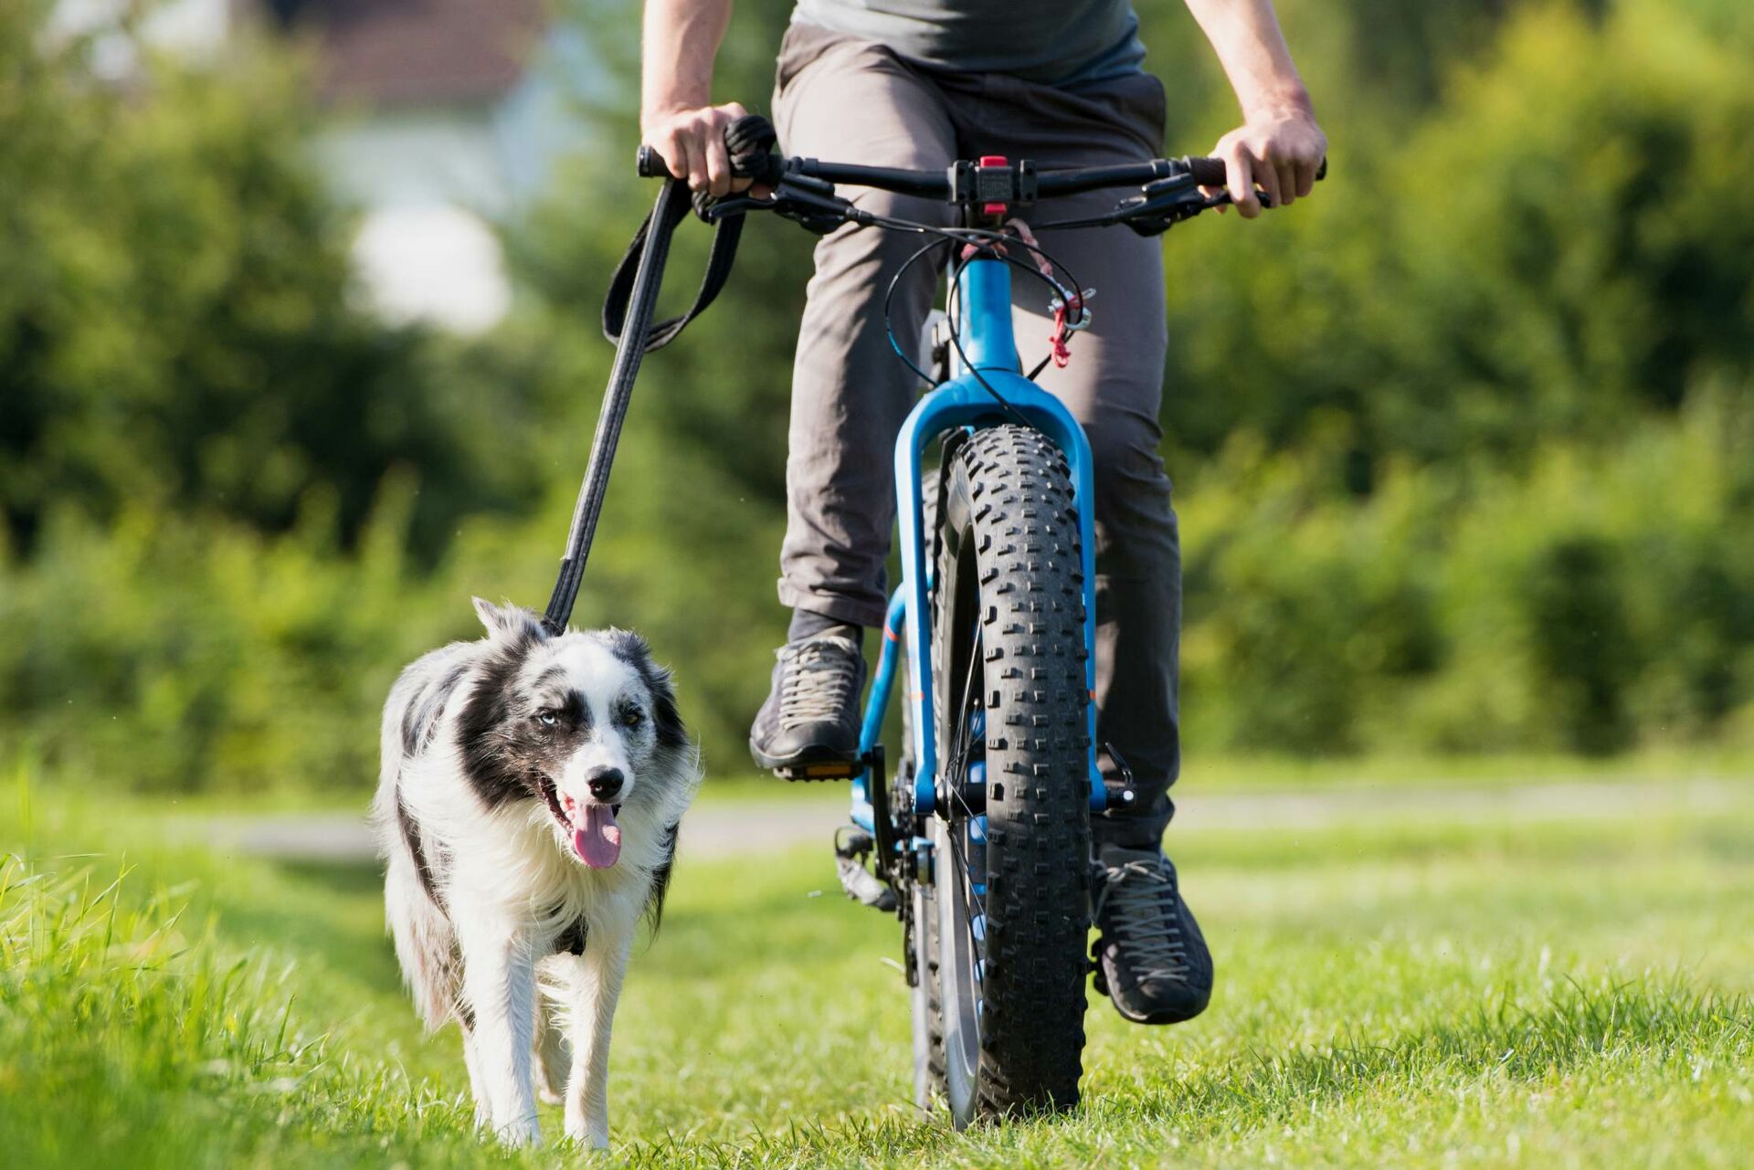
<path fill-rule="evenodd" d="M 681 317 L 652 325 L 658 289 L 663 284 L 663 267 L 670 258 L 670 235 L 688 216 L 688 184 L 679 179 L 665 179 L 658 191 L 658 203 L 616 267 L 609 295 L 603 300 L 603 335 L 616 342 L 616 363 L 609 368 L 603 412 L 596 419 L 596 435 L 591 439 L 591 461 L 584 470 L 584 482 L 579 486 L 579 502 L 572 509 L 567 554 L 560 561 L 554 595 L 542 614 L 542 626 L 551 635 L 567 628 L 572 603 L 579 596 L 584 560 L 591 553 L 596 517 L 603 510 L 603 495 L 609 491 L 609 465 L 614 461 L 616 444 L 621 440 L 621 423 L 626 419 L 628 400 L 633 396 L 633 379 L 638 377 L 640 358 L 675 340 L 682 328 L 712 303 L 712 298 L 724 288 L 731 260 L 737 256 L 742 216 L 728 216 L 719 221 L 712 237 L 707 275 L 702 279 L 693 307 Z"/>

